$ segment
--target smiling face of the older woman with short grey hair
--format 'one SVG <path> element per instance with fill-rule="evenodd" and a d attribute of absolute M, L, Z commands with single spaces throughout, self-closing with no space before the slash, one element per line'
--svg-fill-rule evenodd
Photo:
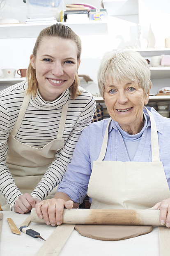
<path fill-rule="evenodd" d="M 111 118 L 130 134 L 143 127 L 143 107 L 148 103 L 149 93 L 144 94 L 135 82 L 113 82 L 105 85 L 104 100 Z"/>

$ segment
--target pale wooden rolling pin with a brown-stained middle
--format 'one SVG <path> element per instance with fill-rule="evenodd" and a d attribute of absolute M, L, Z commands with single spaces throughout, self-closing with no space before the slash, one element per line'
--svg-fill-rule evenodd
<path fill-rule="evenodd" d="M 159 210 L 64 209 L 62 223 L 161 226 L 159 213 Z M 31 221 L 44 223 L 35 208 L 31 210 Z"/>

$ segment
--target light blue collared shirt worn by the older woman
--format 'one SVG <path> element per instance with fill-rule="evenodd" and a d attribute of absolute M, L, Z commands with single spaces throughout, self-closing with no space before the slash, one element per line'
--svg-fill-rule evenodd
<path fill-rule="evenodd" d="M 152 112 L 156 121 L 160 161 L 163 162 L 166 179 L 170 187 L 170 119 L 161 116 L 154 108 L 147 107 L 147 109 Z M 147 124 L 132 160 L 136 162 L 152 161 L 151 124 L 146 110 L 144 112 L 147 116 Z M 87 194 L 93 161 L 99 157 L 108 120 L 104 119 L 92 123 L 83 130 L 74 149 L 71 163 L 68 164 L 65 176 L 58 186 L 58 192 L 66 193 L 76 203 L 81 204 Z M 103 160 L 130 161 L 122 135 L 117 128 L 117 123 L 113 120 L 109 126 L 108 147 Z M 103 170 L 103 180 L 104 178 Z"/>

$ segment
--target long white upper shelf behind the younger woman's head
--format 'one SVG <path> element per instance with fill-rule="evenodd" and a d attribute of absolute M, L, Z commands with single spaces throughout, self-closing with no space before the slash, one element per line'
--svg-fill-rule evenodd
<path fill-rule="evenodd" d="M 60 22 L 69 26 L 79 36 L 106 35 L 108 34 L 108 24 L 102 21 L 89 21 L 86 23 Z M 2 38 L 34 38 L 39 32 L 54 23 L 39 24 L 1 24 L 0 39 Z"/>

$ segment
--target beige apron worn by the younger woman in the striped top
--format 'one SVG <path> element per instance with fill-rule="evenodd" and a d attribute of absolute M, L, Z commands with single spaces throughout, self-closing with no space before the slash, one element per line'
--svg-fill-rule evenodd
<path fill-rule="evenodd" d="M 47 171 L 48 166 L 50 166 L 55 159 L 56 152 L 64 147 L 63 132 L 68 108 L 67 101 L 62 107 L 57 138 L 42 148 L 35 148 L 15 139 L 29 102 L 30 95 L 25 95 L 15 126 L 11 134 L 9 134 L 7 152 L 7 166 L 14 178 L 16 186 L 23 194 L 26 192 L 31 193 L 34 190 Z M 57 187 L 50 193 L 50 197 L 53 197 L 56 190 Z M 9 205 L 3 208 L 6 201 L 2 195 L 0 195 L 0 204 L 2 209 L 9 209 Z"/>

